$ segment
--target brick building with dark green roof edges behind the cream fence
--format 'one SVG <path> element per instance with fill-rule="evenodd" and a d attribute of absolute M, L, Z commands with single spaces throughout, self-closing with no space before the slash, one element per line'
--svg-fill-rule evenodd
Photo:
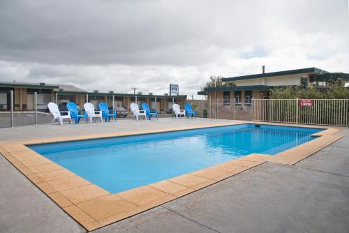
<path fill-rule="evenodd" d="M 221 119 L 251 119 L 252 99 L 268 98 L 269 89 L 282 86 L 310 87 L 329 80 L 349 80 L 349 74 L 329 73 L 319 68 L 283 70 L 255 75 L 223 78 L 223 87 L 208 87 L 198 92 L 207 96 L 208 117 Z"/>

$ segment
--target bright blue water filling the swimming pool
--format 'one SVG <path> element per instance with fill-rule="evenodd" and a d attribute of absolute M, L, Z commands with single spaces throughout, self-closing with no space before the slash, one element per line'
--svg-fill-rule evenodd
<path fill-rule="evenodd" d="M 312 140 L 320 130 L 242 124 L 29 147 L 118 193 L 250 153 L 274 155 Z"/>

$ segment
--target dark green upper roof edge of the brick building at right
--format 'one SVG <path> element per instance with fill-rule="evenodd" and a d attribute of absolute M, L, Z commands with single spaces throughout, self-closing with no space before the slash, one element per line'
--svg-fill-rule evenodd
<path fill-rule="evenodd" d="M 261 78 L 261 77 L 275 77 L 275 76 L 282 76 L 282 75 L 297 75 L 302 73 L 313 73 L 316 75 L 322 75 L 324 73 L 328 73 L 325 70 L 320 70 L 319 68 L 311 67 L 311 68 L 303 68 L 303 69 L 297 69 L 297 70 L 283 70 L 283 71 L 277 71 L 277 72 L 271 72 L 271 73 L 260 73 L 256 75 L 243 75 L 243 76 L 237 76 L 237 77 L 226 77 L 223 78 L 223 82 L 229 82 L 229 81 L 238 81 L 238 80 L 251 80 L 255 78 Z"/>

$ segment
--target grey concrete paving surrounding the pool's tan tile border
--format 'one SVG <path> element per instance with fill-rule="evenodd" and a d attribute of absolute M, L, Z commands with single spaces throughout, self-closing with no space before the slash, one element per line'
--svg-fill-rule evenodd
<path fill-rule="evenodd" d="M 163 119 L 110 127 L 25 126 L 5 133 L 1 129 L 0 140 L 217 121 L 223 122 Z M 347 137 L 296 165 L 265 163 L 95 232 L 349 232 L 349 129 L 343 133 Z M 1 233 L 84 232 L 2 156 L 0 183 Z"/>

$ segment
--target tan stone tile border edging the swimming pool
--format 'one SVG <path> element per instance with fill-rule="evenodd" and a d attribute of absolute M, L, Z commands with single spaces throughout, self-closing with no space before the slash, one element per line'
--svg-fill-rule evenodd
<path fill-rule="evenodd" d="M 230 160 L 202 170 L 184 174 L 181 176 L 151 183 L 132 190 L 112 194 L 96 186 L 64 167 L 57 165 L 29 149 L 26 145 L 43 144 L 52 142 L 66 142 L 75 140 L 89 140 L 105 137 L 121 137 L 148 133 L 163 133 L 178 130 L 190 130 L 198 128 L 210 128 L 217 126 L 232 126 L 237 124 L 253 123 L 277 126 L 293 126 L 308 128 L 327 128 L 319 136 L 299 146 L 293 147 L 274 156 L 252 153 L 248 156 Z M 205 188 L 230 176 L 244 172 L 251 167 L 258 166 L 266 161 L 294 165 L 325 146 L 339 140 L 343 135 L 334 135 L 340 128 L 323 126 L 295 126 L 283 123 L 265 123 L 239 121 L 235 123 L 223 123 L 205 126 L 193 126 L 182 128 L 167 128 L 161 130 L 142 130 L 126 133 L 108 133 L 101 135 L 88 135 L 77 137 L 57 137 L 36 140 L 22 140 L 12 142 L 0 142 L 0 153 L 10 163 L 17 167 L 24 176 L 27 176 L 40 190 L 50 197 L 61 209 L 64 209 L 72 218 L 88 231 L 115 223 L 124 218 L 147 211 L 158 205 L 170 202 L 193 193 L 195 190 Z"/>

